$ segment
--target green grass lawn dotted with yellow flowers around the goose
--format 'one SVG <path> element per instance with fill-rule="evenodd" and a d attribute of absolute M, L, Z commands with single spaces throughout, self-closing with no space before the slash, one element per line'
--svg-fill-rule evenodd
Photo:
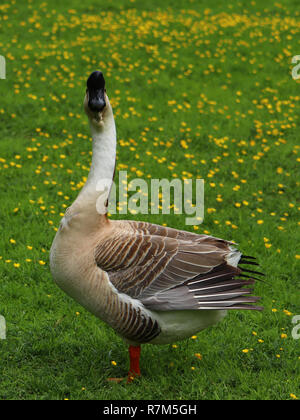
<path fill-rule="evenodd" d="M 300 398 L 297 4 L 1 4 L 1 399 Z M 231 312 L 176 348 L 143 346 L 142 377 L 128 386 L 106 381 L 125 375 L 126 346 L 57 288 L 48 264 L 90 165 L 82 102 L 95 69 L 116 116 L 117 169 L 205 179 L 198 229 L 185 215 L 128 218 L 234 240 L 267 281 L 255 290 L 262 313 Z"/>

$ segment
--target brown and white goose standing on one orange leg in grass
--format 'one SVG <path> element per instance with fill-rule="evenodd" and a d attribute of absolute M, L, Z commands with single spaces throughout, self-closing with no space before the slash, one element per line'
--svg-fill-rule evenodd
<path fill-rule="evenodd" d="M 259 279 L 253 274 L 262 273 L 242 269 L 242 264 L 258 264 L 230 241 L 109 219 L 105 192 L 114 178 L 117 141 L 100 71 L 87 80 L 84 110 L 92 134 L 91 168 L 60 222 L 50 269 L 64 292 L 129 345 L 130 382 L 140 375 L 141 344 L 189 338 L 222 320 L 228 310 L 262 310 L 256 304 L 260 298 L 244 287 Z M 99 180 L 106 180 L 102 187 Z"/>

